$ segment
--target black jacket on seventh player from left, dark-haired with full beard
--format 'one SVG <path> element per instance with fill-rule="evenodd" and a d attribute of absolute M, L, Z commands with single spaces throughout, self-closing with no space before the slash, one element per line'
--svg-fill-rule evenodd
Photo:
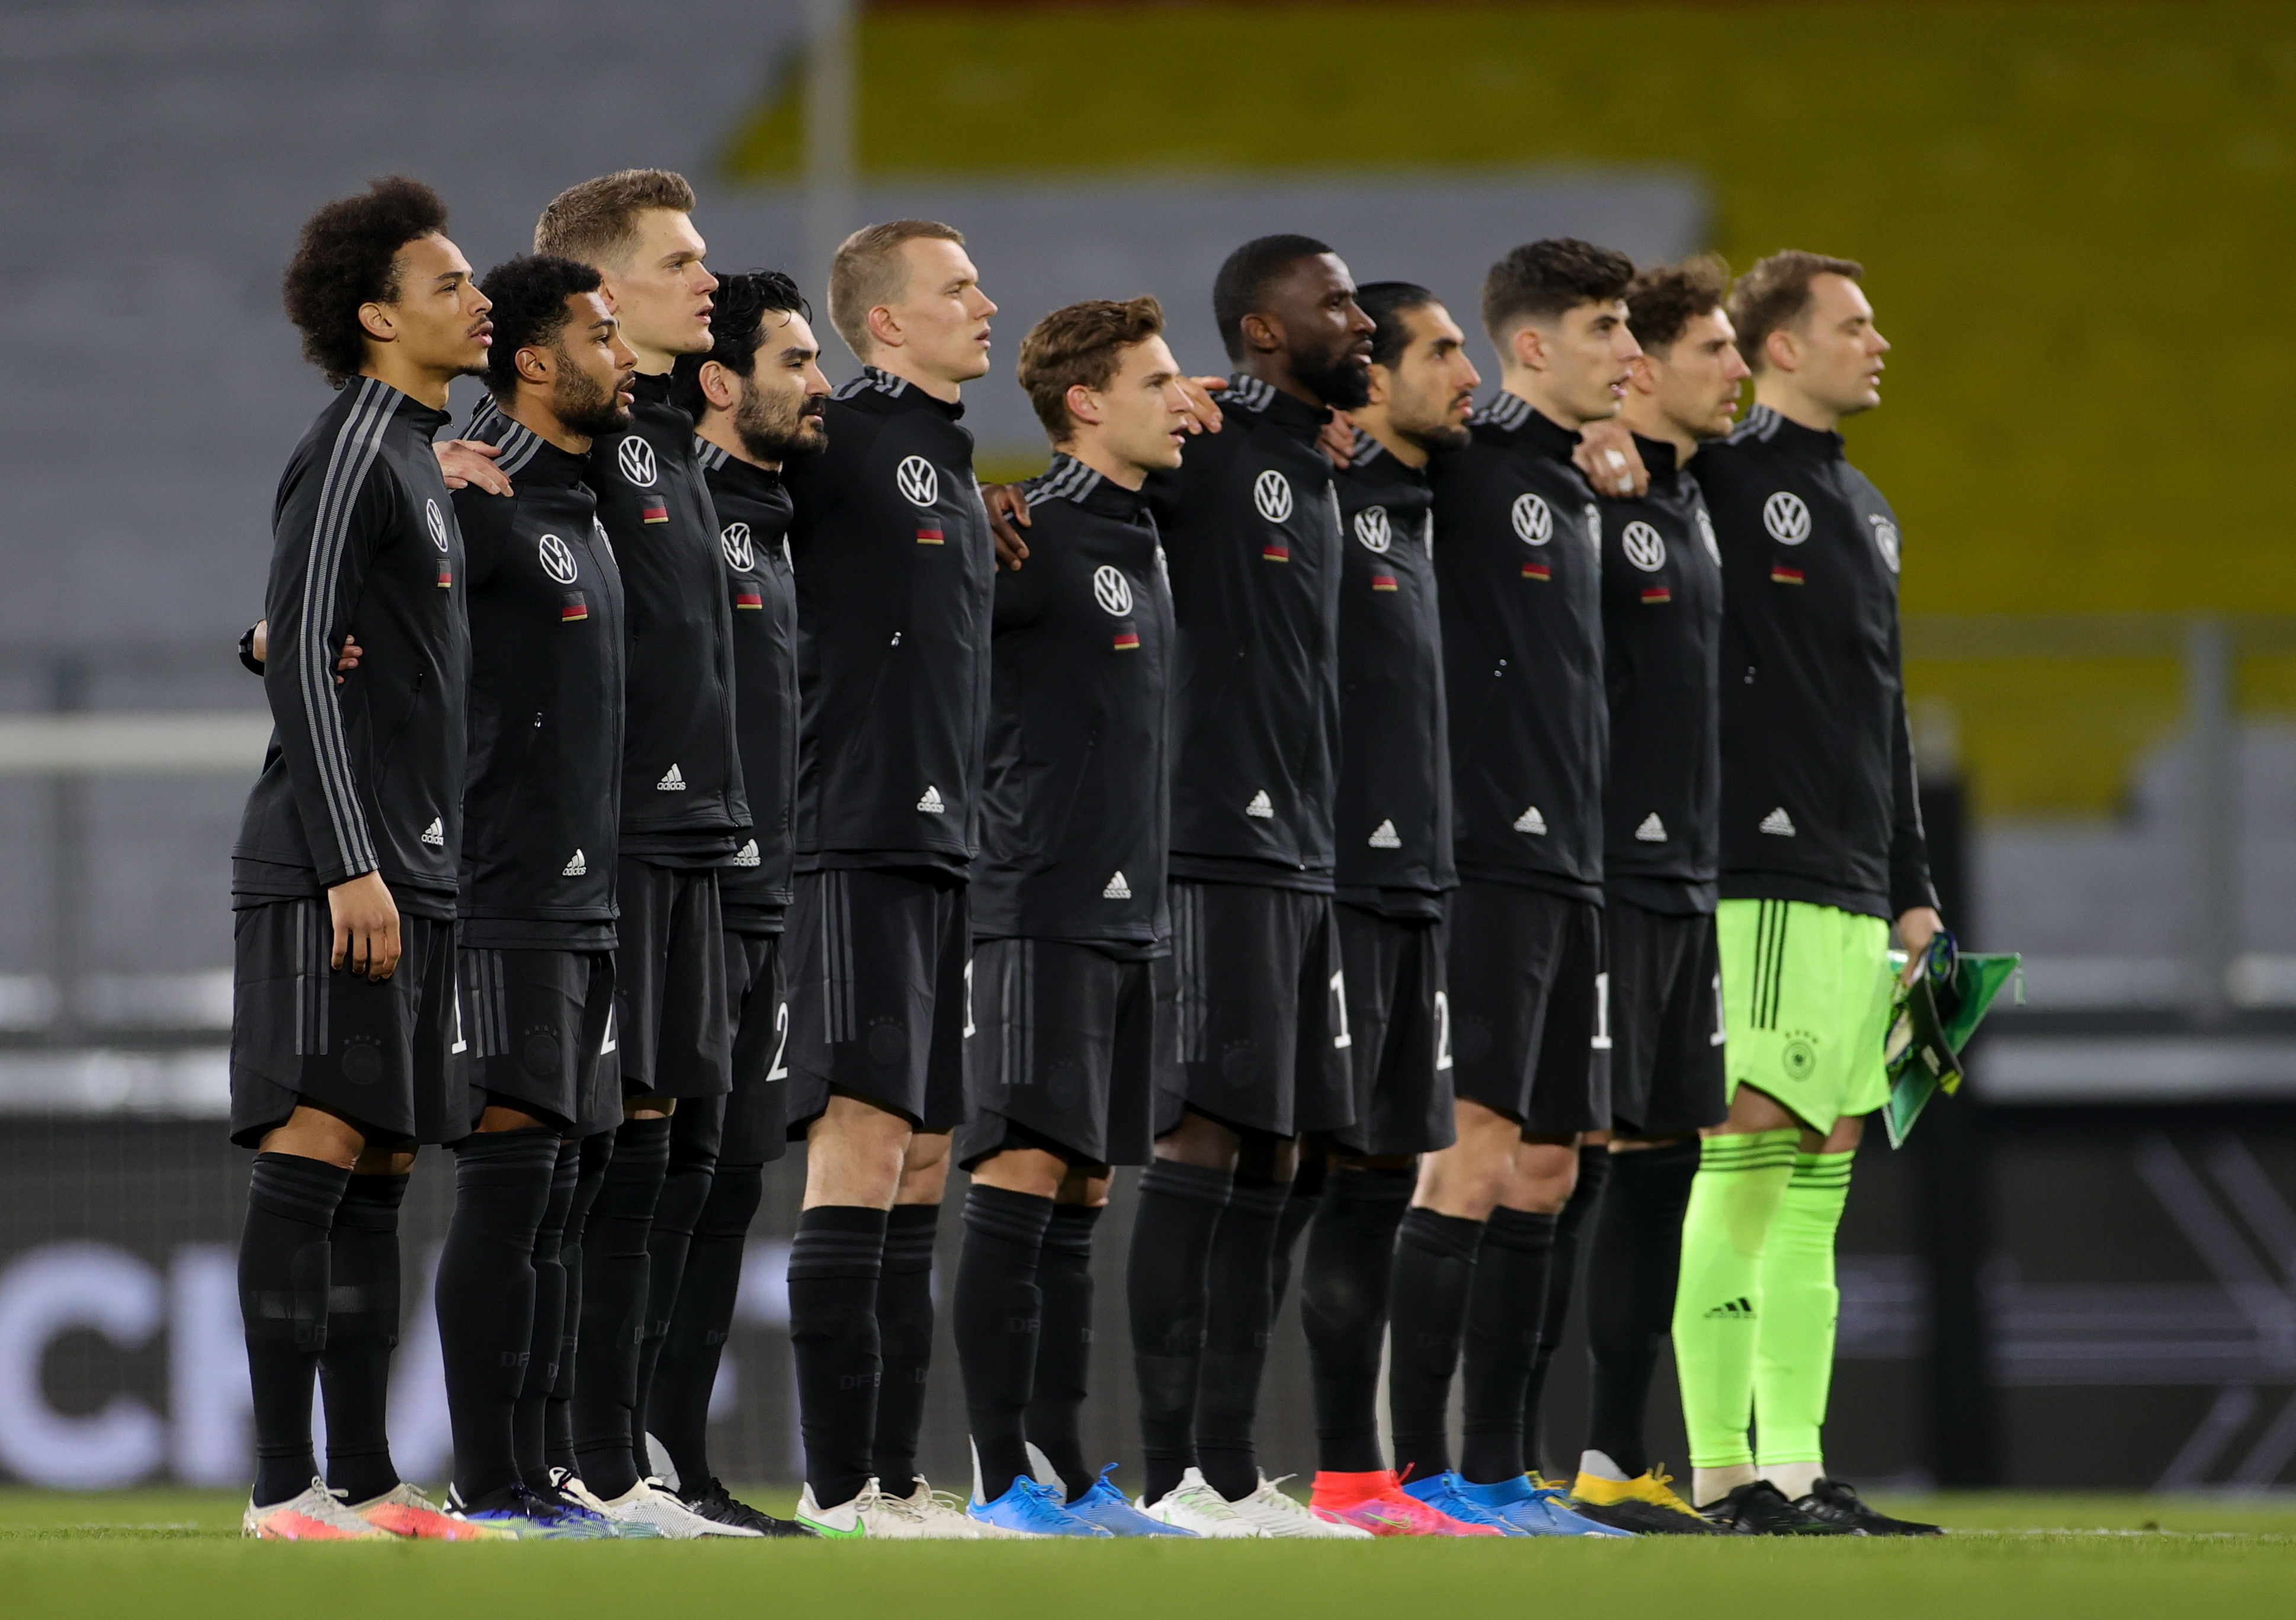
<path fill-rule="evenodd" d="M 1329 420 L 1238 376 L 1217 434 L 1148 480 L 1171 560 L 1171 874 L 1332 893 L 1339 500 Z"/>

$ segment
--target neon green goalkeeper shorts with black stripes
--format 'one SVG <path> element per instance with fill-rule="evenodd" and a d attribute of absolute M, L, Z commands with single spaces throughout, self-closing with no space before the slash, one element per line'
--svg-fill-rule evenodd
<path fill-rule="evenodd" d="M 1722 1030 L 1729 1095 L 1768 1092 L 1812 1131 L 1890 1097 L 1890 925 L 1805 899 L 1724 899 Z"/>

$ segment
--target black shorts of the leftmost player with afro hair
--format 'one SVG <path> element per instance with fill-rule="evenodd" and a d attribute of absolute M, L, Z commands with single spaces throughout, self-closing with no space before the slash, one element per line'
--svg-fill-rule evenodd
<path fill-rule="evenodd" d="M 471 1134 L 452 1058 L 455 925 L 400 913 L 400 966 L 377 984 L 328 966 L 326 899 L 273 899 L 232 916 L 232 1140 L 257 1147 L 312 1101 L 367 1147 Z"/>

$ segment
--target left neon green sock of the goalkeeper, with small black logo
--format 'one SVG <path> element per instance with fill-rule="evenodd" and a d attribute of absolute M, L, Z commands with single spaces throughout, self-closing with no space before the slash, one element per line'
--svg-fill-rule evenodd
<path fill-rule="evenodd" d="M 1683 1274 L 1674 1292 L 1674 1365 L 1694 1469 L 1752 1464 L 1756 1324 L 1763 1248 L 1802 1134 L 1750 1131 L 1699 1143 L 1683 1214 Z"/>

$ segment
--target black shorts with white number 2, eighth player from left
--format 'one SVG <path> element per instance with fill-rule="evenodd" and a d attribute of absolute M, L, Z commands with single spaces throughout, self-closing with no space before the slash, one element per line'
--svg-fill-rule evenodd
<path fill-rule="evenodd" d="M 1332 1134 L 1350 1154 L 1424 1154 L 1458 1136 L 1451 1111 L 1451 998 L 1440 918 L 1382 918 L 1341 902 L 1355 1124 Z"/>

